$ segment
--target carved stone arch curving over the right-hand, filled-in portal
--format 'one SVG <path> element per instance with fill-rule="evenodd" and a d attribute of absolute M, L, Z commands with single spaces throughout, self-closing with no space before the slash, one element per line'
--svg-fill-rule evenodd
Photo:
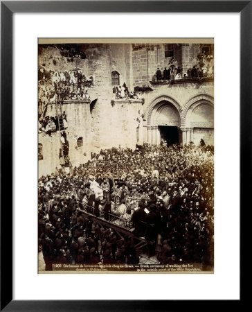
<path fill-rule="evenodd" d="M 181 127 L 188 126 L 186 124 L 188 112 L 191 110 L 195 110 L 196 107 L 199 107 L 199 105 L 203 105 L 204 103 L 210 105 L 211 107 L 214 107 L 213 96 L 210 96 L 210 94 L 197 94 L 196 96 L 192 96 L 187 101 L 181 112 Z"/>

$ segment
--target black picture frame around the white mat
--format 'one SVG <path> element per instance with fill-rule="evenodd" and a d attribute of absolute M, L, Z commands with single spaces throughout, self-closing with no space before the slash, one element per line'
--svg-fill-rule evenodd
<path fill-rule="evenodd" d="M 114 4 L 114 1 L 1 1 L 1 311 L 188 311 L 192 307 L 194 311 L 213 311 L 216 306 L 226 309 L 224 300 L 12 300 L 12 226 L 6 220 L 12 220 L 12 15 L 15 12 L 240 12 L 240 213 L 247 194 L 251 193 L 252 1 Z M 244 303 L 240 286 L 241 299 L 231 302 L 235 309 Z"/>

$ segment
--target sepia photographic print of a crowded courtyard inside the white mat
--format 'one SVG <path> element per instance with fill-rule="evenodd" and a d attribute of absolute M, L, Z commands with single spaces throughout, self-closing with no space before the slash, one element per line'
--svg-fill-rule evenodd
<path fill-rule="evenodd" d="M 38 272 L 214 272 L 213 39 L 39 39 Z"/>

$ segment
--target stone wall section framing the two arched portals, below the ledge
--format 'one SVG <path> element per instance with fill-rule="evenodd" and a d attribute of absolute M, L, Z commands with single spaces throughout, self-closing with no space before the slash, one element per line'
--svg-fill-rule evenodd
<path fill-rule="evenodd" d="M 196 131 L 194 135 L 194 128 L 201 128 L 201 126 L 198 125 L 198 122 L 197 125 L 192 125 L 190 120 L 186 119 L 186 116 L 190 114 L 192 107 L 197 107 L 198 103 L 204 103 L 204 101 L 206 101 L 206 103 L 210 102 L 212 103 L 211 105 L 213 105 L 213 81 L 206 81 L 205 83 L 185 82 L 174 85 L 161 83 L 159 85 L 152 85 L 152 88 L 153 91 L 151 92 L 140 93 L 140 96 L 145 99 L 143 105 L 144 141 L 152 144 L 159 144 L 161 137 L 158 125 L 178 126 L 181 130 L 179 131 L 179 142 L 181 144 L 188 144 L 190 141 L 195 140 L 199 141 L 201 139 L 200 135 L 204 130 L 201 132 Z M 165 102 L 167 107 L 172 105 L 174 110 L 177 110 L 179 113 L 179 121 L 177 123 L 173 122 L 171 113 L 169 116 L 165 114 Z M 190 114 L 190 116 L 195 118 L 195 114 Z M 167 120 L 164 122 L 163 119 L 165 119 L 165 117 L 167 117 Z M 213 144 L 213 115 L 206 116 L 206 119 L 209 119 L 209 122 L 204 125 L 204 128 L 209 126 L 211 128 L 210 131 L 206 132 L 206 141 L 209 142 L 208 144 Z M 186 121 L 188 121 L 188 124 Z M 204 136 L 206 136 L 206 134 Z"/>

